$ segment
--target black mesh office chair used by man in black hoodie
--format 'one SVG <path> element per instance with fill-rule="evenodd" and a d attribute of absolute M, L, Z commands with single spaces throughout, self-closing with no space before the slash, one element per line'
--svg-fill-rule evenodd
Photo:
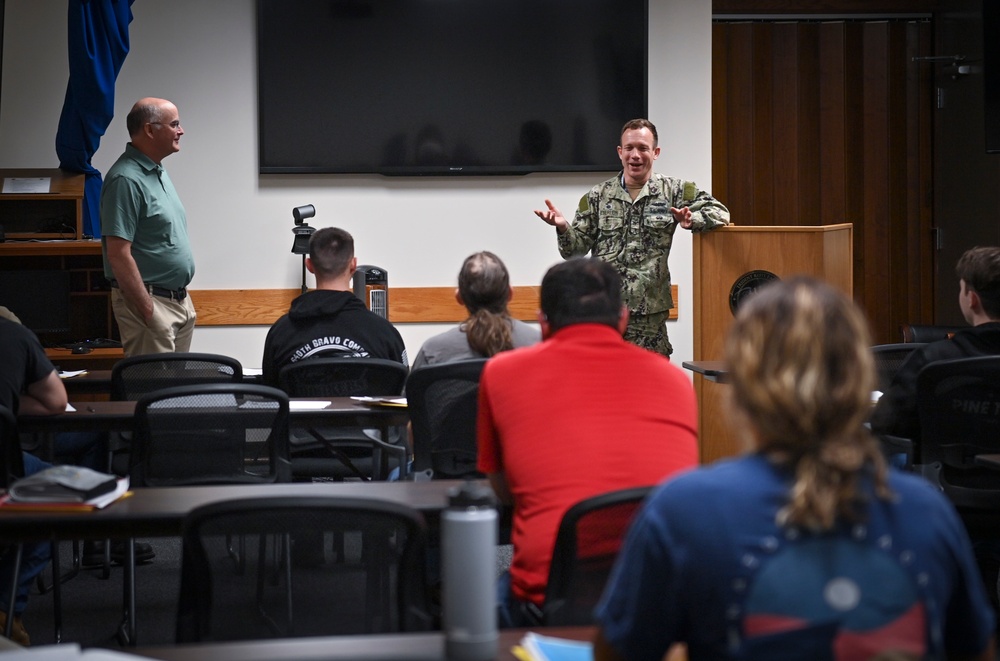
<path fill-rule="evenodd" d="M 405 365 L 392 360 L 310 358 L 282 367 L 278 383 L 289 397 L 392 396 L 403 392 L 407 373 Z M 395 457 L 400 476 L 406 472 L 402 438 L 376 438 L 360 428 L 293 429 L 291 452 L 296 479 L 384 480 L 390 456 Z"/>

